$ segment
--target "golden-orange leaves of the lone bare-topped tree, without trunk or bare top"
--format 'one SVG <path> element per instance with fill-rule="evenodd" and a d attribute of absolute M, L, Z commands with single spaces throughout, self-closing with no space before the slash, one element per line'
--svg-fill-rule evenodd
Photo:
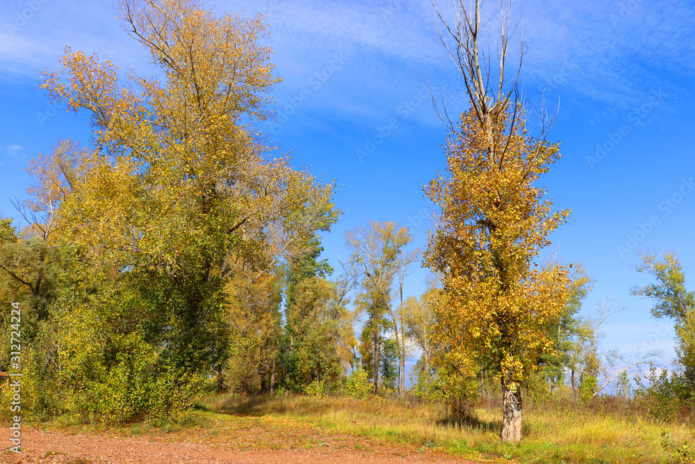
<path fill-rule="evenodd" d="M 435 306 L 451 356 L 475 356 L 514 391 L 552 347 L 543 323 L 559 317 L 568 296 L 567 270 L 533 261 L 569 211 L 550 214 L 536 184 L 559 158 L 557 145 L 527 133 L 523 109 L 495 114 L 488 131 L 464 113 L 450 137 L 448 175 L 426 189 L 441 217 L 425 262 L 444 275 L 446 297 Z"/>

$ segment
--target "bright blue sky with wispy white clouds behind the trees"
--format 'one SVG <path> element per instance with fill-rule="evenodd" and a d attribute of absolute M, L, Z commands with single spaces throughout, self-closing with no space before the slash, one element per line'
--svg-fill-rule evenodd
<path fill-rule="evenodd" d="M 490 1 L 490 6 L 496 2 Z M 65 46 L 97 51 L 144 74 L 148 57 L 115 19 L 110 2 L 7 0 L 0 11 L 0 213 L 22 197 L 26 161 L 60 136 L 88 143 L 87 115 L 56 108 L 38 89 Z M 438 3 L 448 11 L 449 3 Z M 436 40 L 429 1 L 220 0 L 215 10 L 266 13 L 274 51 L 277 124 L 261 125 L 297 166 L 336 178 L 344 211 L 323 240 L 336 265 L 345 230 L 368 220 L 408 225 L 425 246 L 432 205 L 422 186 L 445 168 L 445 127 L 428 86 L 464 108 L 459 81 Z M 521 79 L 529 99 L 559 103 L 551 141 L 562 159 L 541 179 L 557 208 L 572 208 L 553 250 L 596 277 L 585 312 L 607 294 L 628 310 L 604 326 L 606 346 L 646 343 L 673 357 L 673 331 L 651 319 L 633 248 L 677 250 L 695 287 L 695 2 L 526 0 L 528 45 Z M 495 15 L 485 20 L 494 25 Z M 486 23 L 488 24 L 488 23 Z M 459 89 L 460 90 L 460 89 Z M 374 143 L 370 146 L 369 143 Z M 360 157 L 358 150 L 371 150 Z M 694 187 L 695 188 L 695 187 Z M 623 248 L 620 248 L 623 247 Z M 424 274 L 407 281 L 420 294 Z"/>

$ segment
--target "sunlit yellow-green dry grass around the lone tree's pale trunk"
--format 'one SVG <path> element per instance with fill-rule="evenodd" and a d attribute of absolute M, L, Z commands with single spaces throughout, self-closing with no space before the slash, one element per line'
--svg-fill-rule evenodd
<path fill-rule="evenodd" d="M 500 443 L 501 410 L 478 409 L 473 419 L 457 420 L 449 417 L 441 405 L 416 400 L 215 395 L 199 401 L 197 414 L 256 418 L 259 426 L 267 422 L 280 429 L 311 424 L 486 461 L 694 462 L 689 456 L 680 461 L 677 458 L 678 447 L 694 441 L 693 429 L 630 418 L 605 410 L 600 404 L 593 406 L 566 403 L 551 408 L 547 403 L 527 404 L 521 445 Z"/>

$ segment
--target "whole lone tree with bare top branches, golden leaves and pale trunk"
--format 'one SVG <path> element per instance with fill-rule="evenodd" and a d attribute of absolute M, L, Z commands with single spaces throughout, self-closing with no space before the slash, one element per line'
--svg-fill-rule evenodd
<path fill-rule="evenodd" d="M 518 99 L 518 72 L 507 87 L 514 33 L 509 10 L 502 3 L 497 56 L 484 56 L 481 6 L 481 0 L 471 6 L 456 2 L 453 23 L 439 15 L 448 34 L 442 43 L 461 74 L 470 108 L 450 126 L 446 175 L 425 189 L 441 208 L 425 263 L 445 275 L 440 333 L 461 360 L 473 357 L 500 375 L 501 437 L 520 441 L 521 385 L 540 353 L 553 348 L 543 326 L 559 317 L 568 292 L 566 269 L 540 269 L 534 259 L 569 211 L 551 214 L 546 191 L 537 186 L 559 158 L 558 146 L 546 141 L 545 113 L 539 134 L 532 136 Z M 491 76 L 485 66 L 494 61 L 498 75 Z"/>

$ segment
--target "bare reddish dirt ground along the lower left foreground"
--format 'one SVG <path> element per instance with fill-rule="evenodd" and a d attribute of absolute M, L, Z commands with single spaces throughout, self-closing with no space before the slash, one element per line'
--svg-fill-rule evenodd
<path fill-rule="evenodd" d="M 240 431 L 240 433 L 244 433 Z M 309 449 L 243 450 L 229 443 L 170 441 L 163 437 L 118 437 L 115 435 L 76 434 L 60 431 L 22 431 L 20 454 L 9 451 L 10 433 L 0 433 L 0 462 L 12 464 L 60 463 L 441 463 L 475 464 L 429 449 L 393 445 L 354 435 L 326 433 L 320 447 Z"/>

